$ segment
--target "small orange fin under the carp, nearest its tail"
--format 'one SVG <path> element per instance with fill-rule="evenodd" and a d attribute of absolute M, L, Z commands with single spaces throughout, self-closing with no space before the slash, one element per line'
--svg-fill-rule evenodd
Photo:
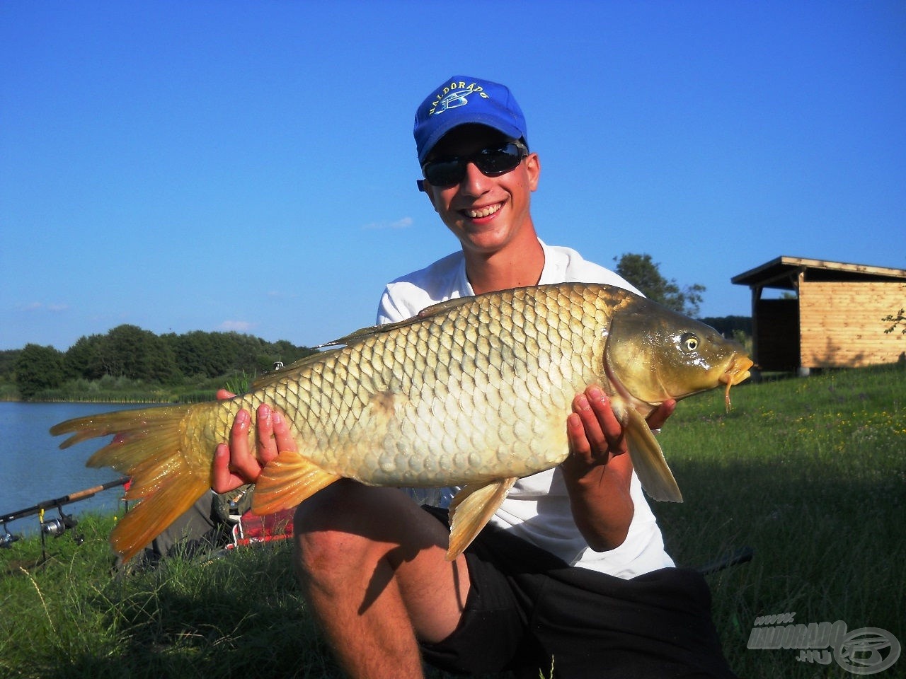
<path fill-rule="evenodd" d="M 340 478 L 304 455 L 284 451 L 265 464 L 255 481 L 252 512 L 272 514 L 290 509 Z"/>

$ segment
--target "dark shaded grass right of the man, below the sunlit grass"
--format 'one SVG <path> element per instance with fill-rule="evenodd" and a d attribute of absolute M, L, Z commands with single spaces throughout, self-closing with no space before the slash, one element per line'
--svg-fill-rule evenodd
<path fill-rule="evenodd" d="M 698 567 L 742 547 L 751 563 L 708 576 L 713 617 L 741 676 L 813 676 L 794 650 L 749 650 L 756 617 L 843 620 L 852 629 L 906 629 L 906 465 L 872 460 L 805 466 L 795 460 L 671 463 L 685 502 L 652 502 L 667 550 Z M 883 576 L 882 574 L 889 574 Z M 899 575 L 893 575 L 899 574 Z M 843 670 L 839 667 L 837 670 Z"/>

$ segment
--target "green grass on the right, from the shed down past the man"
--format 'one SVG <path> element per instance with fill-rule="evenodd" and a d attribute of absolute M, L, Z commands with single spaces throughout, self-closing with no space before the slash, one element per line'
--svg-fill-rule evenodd
<path fill-rule="evenodd" d="M 708 577 L 740 676 L 850 676 L 746 643 L 756 617 L 792 612 L 796 623 L 843 620 L 906 643 L 906 370 L 828 372 L 731 396 L 729 414 L 717 394 L 681 403 L 660 435 L 685 496 L 653 505 L 668 551 L 700 565 L 755 550 Z"/>

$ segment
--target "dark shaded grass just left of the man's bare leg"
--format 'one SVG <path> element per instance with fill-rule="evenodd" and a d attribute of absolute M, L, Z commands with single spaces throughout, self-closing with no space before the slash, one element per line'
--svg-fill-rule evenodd
<path fill-rule="evenodd" d="M 44 675 L 342 676 L 304 610 L 285 550 L 206 565 L 173 560 L 113 579 L 89 605 L 108 617 L 111 646 L 74 652 Z"/>

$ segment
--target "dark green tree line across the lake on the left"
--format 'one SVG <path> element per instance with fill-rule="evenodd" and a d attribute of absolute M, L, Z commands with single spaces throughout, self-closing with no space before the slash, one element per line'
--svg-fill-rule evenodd
<path fill-rule="evenodd" d="M 284 339 L 238 332 L 156 335 L 120 325 L 104 335 L 82 336 L 66 351 L 27 344 L 0 352 L 0 380 L 13 383 L 23 400 L 73 380 L 125 379 L 146 385 L 195 384 L 230 375 L 257 376 L 314 352 Z"/>

